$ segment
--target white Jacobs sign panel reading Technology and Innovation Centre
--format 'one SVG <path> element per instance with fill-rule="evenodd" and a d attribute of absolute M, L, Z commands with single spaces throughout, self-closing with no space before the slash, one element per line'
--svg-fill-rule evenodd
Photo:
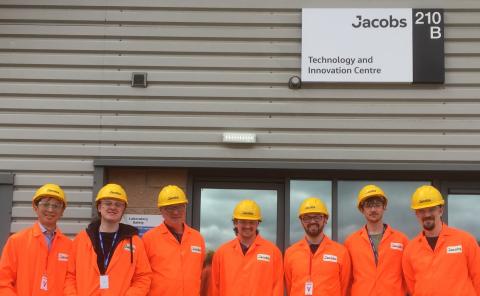
<path fill-rule="evenodd" d="M 303 9 L 303 82 L 412 82 L 412 9 Z"/>

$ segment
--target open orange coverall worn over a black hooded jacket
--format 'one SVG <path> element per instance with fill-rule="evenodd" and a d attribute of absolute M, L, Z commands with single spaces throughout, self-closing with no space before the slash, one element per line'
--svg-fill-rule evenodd
<path fill-rule="evenodd" d="M 151 281 L 150 264 L 142 240 L 134 235 L 132 242 L 133 262 L 130 239 L 123 239 L 115 248 L 105 273 L 109 288 L 100 289 L 97 254 L 87 232 L 80 232 L 73 240 L 64 295 L 147 295 Z"/>

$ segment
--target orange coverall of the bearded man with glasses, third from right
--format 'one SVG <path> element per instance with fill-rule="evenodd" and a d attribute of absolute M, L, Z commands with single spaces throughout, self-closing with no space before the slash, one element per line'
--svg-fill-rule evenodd
<path fill-rule="evenodd" d="M 324 236 L 315 254 L 304 238 L 285 252 L 285 282 L 289 296 L 304 296 L 305 284 L 313 283 L 313 295 L 347 295 L 350 256 L 341 244 Z"/>

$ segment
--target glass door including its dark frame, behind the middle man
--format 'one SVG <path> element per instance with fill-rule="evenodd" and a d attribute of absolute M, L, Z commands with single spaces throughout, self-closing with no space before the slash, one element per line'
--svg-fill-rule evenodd
<path fill-rule="evenodd" d="M 283 187 L 280 184 L 198 182 L 194 185 L 193 223 L 199 226 L 207 250 L 216 250 L 235 237 L 232 213 L 244 199 L 258 203 L 263 221 L 260 234 L 283 248 Z"/>

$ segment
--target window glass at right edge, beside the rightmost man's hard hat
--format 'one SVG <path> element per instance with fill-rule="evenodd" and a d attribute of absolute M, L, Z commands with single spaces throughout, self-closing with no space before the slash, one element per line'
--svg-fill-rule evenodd
<path fill-rule="evenodd" d="M 448 224 L 468 231 L 480 243 L 477 215 L 480 211 L 480 195 L 448 195 Z"/>

